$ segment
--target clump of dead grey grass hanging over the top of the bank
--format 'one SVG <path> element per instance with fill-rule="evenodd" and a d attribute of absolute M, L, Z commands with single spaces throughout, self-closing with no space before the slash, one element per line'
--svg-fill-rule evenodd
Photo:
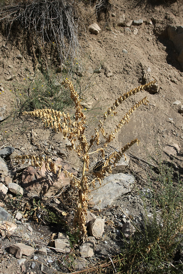
<path fill-rule="evenodd" d="M 15 29 L 16 33 L 24 32 L 27 46 L 34 47 L 34 58 L 40 57 L 45 42 L 55 44 L 60 61 L 77 54 L 77 20 L 74 5 L 68 0 L 11 2 L 2 7 L 0 22 L 7 39 L 20 38 L 15 37 Z"/>

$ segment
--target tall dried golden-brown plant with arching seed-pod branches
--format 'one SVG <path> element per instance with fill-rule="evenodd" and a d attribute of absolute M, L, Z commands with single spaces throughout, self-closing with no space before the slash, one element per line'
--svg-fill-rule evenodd
<path fill-rule="evenodd" d="M 81 100 L 79 96 L 74 90 L 74 86 L 72 82 L 68 79 L 64 80 L 62 84 L 65 88 L 70 89 L 70 97 L 75 103 L 75 121 L 72 121 L 70 118 L 69 113 L 65 114 L 61 111 L 55 111 L 53 109 L 37 109 L 34 111 L 25 111 L 23 114 L 29 114 L 34 117 L 39 117 L 42 119 L 45 127 L 51 126 L 56 132 L 62 132 L 64 139 L 70 140 L 71 145 L 69 149 L 73 149 L 79 157 L 83 160 L 83 168 L 82 168 L 82 177 L 77 178 L 74 174 L 65 170 L 62 166 L 56 166 L 56 164 L 47 157 L 42 156 L 31 156 L 31 155 L 21 155 L 16 156 L 16 158 L 21 161 L 22 163 L 25 160 L 31 162 L 31 164 L 35 167 L 42 167 L 43 162 L 48 170 L 56 173 L 56 168 L 59 168 L 58 176 L 60 172 L 63 170 L 66 176 L 71 178 L 71 186 L 73 188 L 78 189 L 79 201 L 77 205 L 77 212 L 74 217 L 74 224 L 78 224 L 80 230 L 80 238 L 83 241 L 84 237 L 86 236 L 86 227 L 85 227 L 85 220 L 86 214 L 88 209 L 88 192 L 89 192 L 89 185 L 92 184 L 95 186 L 95 181 L 98 180 L 99 183 L 102 182 L 103 175 L 108 172 L 112 172 L 112 166 L 120 160 L 123 156 L 124 152 L 127 151 L 133 144 L 139 143 L 138 139 L 132 140 L 130 143 L 127 143 L 124 147 L 121 148 L 121 151 L 114 151 L 109 156 L 105 157 L 105 150 L 108 144 L 113 141 L 117 132 L 129 121 L 129 116 L 135 111 L 138 107 L 142 104 L 147 104 L 147 97 L 144 97 L 141 101 L 135 104 L 131 109 L 124 115 L 124 117 L 118 122 L 115 126 L 113 131 L 110 133 L 106 133 L 104 130 L 104 123 L 106 119 L 114 114 L 116 115 L 116 108 L 128 97 L 137 93 L 138 91 L 145 90 L 146 88 L 154 85 L 156 81 L 151 81 L 146 83 L 145 85 L 141 85 L 138 88 L 132 89 L 129 92 L 125 93 L 123 96 L 120 96 L 111 107 L 109 107 L 108 111 L 103 114 L 103 119 L 99 121 L 99 125 L 95 128 L 95 134 L 91 136 L 91 139 L 87 141 L 86 136 L 84 135 L 85 131 L 85 115 L 82 112 Z M 100 134 L 103 135 L 105 142 L 103 146 L 99 146 L 99 136 Z M 98 149 L 95 151 L 90 151 L 93 144 L 96 142 Z M 95 178 L 88 182 L 87 172 L 89 170 L 89 163 L 90 163 L 90 155 L 92 153 L 101 153 L 103 158 L 103 163 L 101 166 L 101 170 L 96 172 Z"/>

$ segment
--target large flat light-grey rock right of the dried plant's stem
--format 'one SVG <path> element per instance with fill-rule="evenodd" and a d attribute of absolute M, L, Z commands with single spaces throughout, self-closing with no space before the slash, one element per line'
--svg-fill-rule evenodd
<path fill-rule="evenodd" d="M 118 173 L 104 178 L 102 186 L 96 185 L 96 189 L 91 191 L 89 203 L 98 205 L 100 209 L 109 206 L 113 201 L 131 191 L 134 184 L 134 177 L 129 174 Z"/>

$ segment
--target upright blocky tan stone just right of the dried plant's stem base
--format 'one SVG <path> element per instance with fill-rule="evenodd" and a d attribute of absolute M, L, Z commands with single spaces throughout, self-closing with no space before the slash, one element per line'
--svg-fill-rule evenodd
<path fill-rule="evenodd" d="M 104 233 L 104 225 L 105 219 L 97 218 L 91 220 L 89 225 L 90 235 L 94 236 L 95 239 L 98 240 L 100 237 L 102 237 L 102 234 Z"/>

